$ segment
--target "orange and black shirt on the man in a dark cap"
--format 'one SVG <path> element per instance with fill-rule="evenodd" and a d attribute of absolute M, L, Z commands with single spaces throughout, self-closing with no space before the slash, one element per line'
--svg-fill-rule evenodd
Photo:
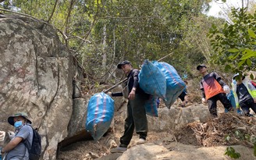
<path fill-rule="evenodd" d="M 200 89 L 204 89 L 205 99 L 212 98 L 216 94 L 225 93 L 217 81 L 221 78 L 217 73 L 208 73 L 200 82 Z"/>

